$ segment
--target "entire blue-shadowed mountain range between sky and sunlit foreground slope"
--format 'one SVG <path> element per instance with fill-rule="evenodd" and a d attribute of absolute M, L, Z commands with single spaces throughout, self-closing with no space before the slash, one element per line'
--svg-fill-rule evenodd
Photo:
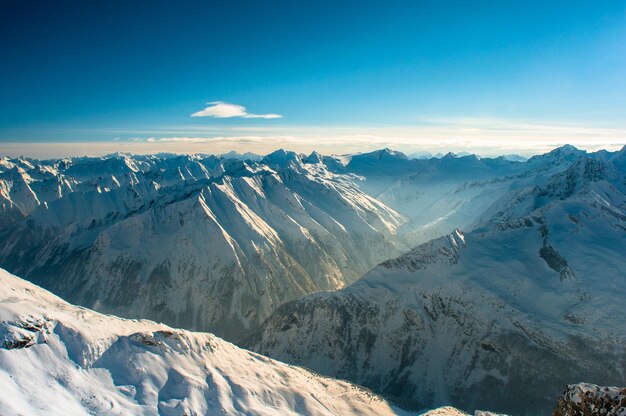
<path fill-rule="evenodd" d="M 625 232 L 626 147 L 0 159 L 9 272 L 412 410 L 624 384 Z"/>

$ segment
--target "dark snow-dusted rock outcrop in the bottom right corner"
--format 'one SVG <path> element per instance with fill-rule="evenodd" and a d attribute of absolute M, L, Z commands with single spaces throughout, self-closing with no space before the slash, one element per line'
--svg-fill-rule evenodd
<path fill-rule="evenodd" d="M 552 416 L 626 416 L 626 387 L 570 384 Z"/>

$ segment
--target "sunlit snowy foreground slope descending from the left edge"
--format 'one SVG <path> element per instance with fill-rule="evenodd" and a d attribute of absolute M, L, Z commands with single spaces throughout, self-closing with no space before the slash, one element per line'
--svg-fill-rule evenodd
<path fill-rule="evenodd" d="M 4 270 L 0 390 L 3 415 L 405 414 L 211 334 L 72 306 Z"/>

